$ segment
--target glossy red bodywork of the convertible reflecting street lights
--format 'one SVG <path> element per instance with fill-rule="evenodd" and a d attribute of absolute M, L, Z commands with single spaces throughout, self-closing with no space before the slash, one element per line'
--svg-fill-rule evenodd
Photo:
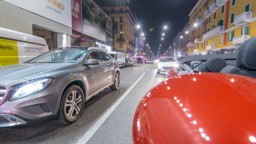
<path fill-rule="evenodd" d="M 134 143 L 252 143 L 256 79 L 231 74 L 174 76 L 142 98 Z"/>

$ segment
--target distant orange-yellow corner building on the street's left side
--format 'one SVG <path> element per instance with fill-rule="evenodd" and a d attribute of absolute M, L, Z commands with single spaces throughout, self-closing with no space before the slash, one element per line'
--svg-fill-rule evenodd
<path fill-rule="evenodd" d="M 105 7 L 103 8 L 112 18 L 113 34 L 112 46 L 114 51 L 132 53 L 135 49 L 135 22 L 130 8 Z"/>

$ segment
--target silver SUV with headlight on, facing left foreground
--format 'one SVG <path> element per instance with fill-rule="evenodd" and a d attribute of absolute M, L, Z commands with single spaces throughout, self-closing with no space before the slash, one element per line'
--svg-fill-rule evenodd
<path fill-rule="evenodd" d="M 0 67 L 0 127 L 46 119 L 72 124 L 85 101 L 106 88 L 117 90 L 119 84 L 118 64 L 97 48 L 56 49 Z"/>

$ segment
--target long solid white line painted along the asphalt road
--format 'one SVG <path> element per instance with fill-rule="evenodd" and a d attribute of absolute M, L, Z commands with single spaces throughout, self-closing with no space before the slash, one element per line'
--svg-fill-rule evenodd
<path fill-rule="evenodd" d="M 121 101 L 123 101 L 124 98 L 130 93 L 130 91 L 132 91 L 134 86 L 139 82 L 139 80 L 141 80 L 144 74 L 145 73 L 143 73 L 141 77 L 139 77 L 139 79 L 136 80 L 136 82 L 133 83 L 133 85 L 130 86 L 130 88 L 117 100 L 117 102 L 115 102 L 115 104 L 113 104 L 113 106 L 110 109 L 108 109 L 108 111 L 104 113 L 104 115 L 100 119 L 98 119 L 97 122 L 94 123 L 94 125 L 90 128 L 90 130 L 88 130 L 84 134 L 84 136 L 82 136 L 81 139 L 77 142 L 78 144 L 82 144 L 82 143 L 84 144 L 84 143 L 87 143 L 88 140 L 90 140 L 93 134 L 96 133 L 96 131 L 99 129 L 100 125 L 102 125 L 103 122 L 105 122 L 106 119 L 109 117 L 109 115 L 111 115 L 111 113 L 114 112 L 115 108 L 117 108 L 117 106 L 121 103 Z"/>

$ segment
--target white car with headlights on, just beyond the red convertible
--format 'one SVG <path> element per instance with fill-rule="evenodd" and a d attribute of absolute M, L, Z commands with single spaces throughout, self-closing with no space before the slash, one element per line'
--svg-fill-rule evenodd
<path fill-rule="evenodd" d="M 169 71 L 174 67 L 179 67 L 178 63 L 175 62 L 175 59 L 172 57 L 161 57 L 159 62 L 157 62 L 157 73 Z"/>

